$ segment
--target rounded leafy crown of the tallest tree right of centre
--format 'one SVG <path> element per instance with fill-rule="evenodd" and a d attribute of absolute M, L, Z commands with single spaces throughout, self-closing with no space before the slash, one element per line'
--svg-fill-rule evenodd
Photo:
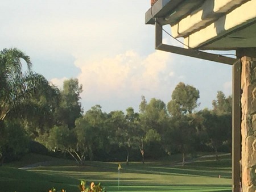
<path fill-rule="evenodd" d="M 180 82 L 172 92 L 172 100 L 167 105 L 168 111 L 172 116 L 192 114 L 192 111 L 200 105 L 197 99 L 199 99 L 199 90 Z"/>

